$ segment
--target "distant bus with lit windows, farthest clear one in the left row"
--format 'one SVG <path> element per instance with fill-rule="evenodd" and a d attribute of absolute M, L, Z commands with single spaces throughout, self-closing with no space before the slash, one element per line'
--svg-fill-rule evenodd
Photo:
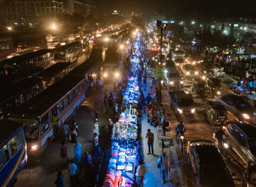
<path fill-rule="evenodd" d="M 64 42 L 63 42 L 64 44 Z M 64 44 L 53 49 L 54 58 L 56 62 L 75 62 L 82 52 L 82 44 L 80 41 Z"/>

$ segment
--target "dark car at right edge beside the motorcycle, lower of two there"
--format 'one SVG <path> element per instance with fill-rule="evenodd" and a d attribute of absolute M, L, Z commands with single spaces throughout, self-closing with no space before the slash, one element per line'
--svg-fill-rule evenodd
<path fill-rule="evenodd" d="M 245 164 L 256 164 L 256 126 L 244 121 L 232 122 L 222 129 L 229 147 Z"/>

